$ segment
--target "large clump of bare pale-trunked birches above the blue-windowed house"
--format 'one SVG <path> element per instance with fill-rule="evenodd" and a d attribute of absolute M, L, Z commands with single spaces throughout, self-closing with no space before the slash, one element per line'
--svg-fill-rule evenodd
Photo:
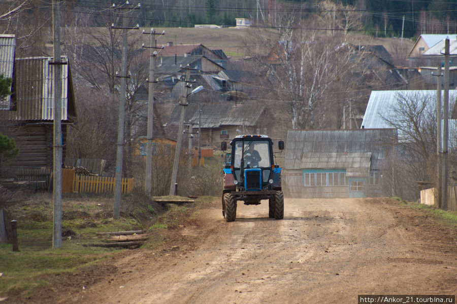
<path fill-rule="evenodd" d="M 357 84 L 355 77 L 363 75 L 363 71 L 351 74 L 361 57 L 351 56 L 353 49 L 345 43 L 345 31 L 321 30 L 326 18 L 283 14 L 277 17 L 280 26 L 254 27 L 247 36 L 248 52 L 267 70 L 272 84 L 279 88 L 278 97 L 289 104 L 294 129 L 328 127 L 332 119 L 327 109 L 338 107 L 342 112 L 343 106 L 342 102 L 327 102 L 328 97 L 338 87 L 341 98 L 353 87 L 350 83 Z M 260 50 L 270 50 L 268 56 L 250 47 L 253 41 Z"/>

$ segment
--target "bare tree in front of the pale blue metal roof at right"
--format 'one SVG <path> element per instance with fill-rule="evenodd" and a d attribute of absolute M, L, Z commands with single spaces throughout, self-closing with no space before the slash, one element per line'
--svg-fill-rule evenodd
<path fill-rule="evenodd" d="M 391 186 L 398 195 L 415 200 L 417 181 L 436 182 L 436 97 L 421 91 L 399 94 L 382 116 L 389 126 L 398 129 L 397 158 L 392 160 Z M 453 108 L 455 100 L 450 101 Z M 449 117 L 450 118 L 450 117 Z M 451 136 L 449 138 L 452 138 Z M 455 142 L 449 144 L 449 163 L 455 163 Z M 389 170 L 386 170 L 387 172 Z"/>

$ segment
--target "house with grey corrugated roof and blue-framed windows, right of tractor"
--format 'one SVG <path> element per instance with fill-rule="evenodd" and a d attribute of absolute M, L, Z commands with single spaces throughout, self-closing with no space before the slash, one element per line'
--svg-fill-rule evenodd
<path fill-rule="evenodd" d="M 286 191 L 298 198 L 363 198 L 383 191 L 396 129 L 289 130 Z"/>

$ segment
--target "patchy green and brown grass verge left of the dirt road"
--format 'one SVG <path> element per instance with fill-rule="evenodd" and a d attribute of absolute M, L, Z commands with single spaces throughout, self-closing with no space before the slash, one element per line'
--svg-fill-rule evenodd
<path fill-rule="evenodd" d="M 81 273 L 128 250 L 83 246 L 107 241 L 97 232 L 144 230 L 149 240 L 141 248 L 154 249 L 167 241 L 168 229 L 192 220 L 199 214 L 198 206 L 211 201 L 212 197 L 205 196 L 189 205 L 162 207 L 144 194 L 123 195 L 121 218 L 115 220 L 111 196 L 65 196 L 62 247 L 57 249 L 52 248 L 52 194 L 25 194 L 15 201 L 0 202 L 0 209 L 18 219 L 19 244 L 19 252 L 13 252 L 11 244 L 0 243 L 0 298 L 25 299 L 49 286 L 56 276 Z"/>

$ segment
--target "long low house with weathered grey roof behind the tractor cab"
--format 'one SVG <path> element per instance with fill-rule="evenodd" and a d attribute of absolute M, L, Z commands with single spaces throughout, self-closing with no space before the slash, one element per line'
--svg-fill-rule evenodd
<path fill-rule="evenodd" d="M 176 105 L 166 124 L 169 137 L 176 138 L 181 105 Z M 255 103 L 215 102 L 189 103 L 184 122 L 194 130 L 200 122 L 202 145 L 219 146 L 220 141 L 240 134 L 272 134 L 271 116 L 265 105 Z M 200 108 L 200 116 L 199 116 Z M 174 127 L 174 128 L 173 128 Z"/>

